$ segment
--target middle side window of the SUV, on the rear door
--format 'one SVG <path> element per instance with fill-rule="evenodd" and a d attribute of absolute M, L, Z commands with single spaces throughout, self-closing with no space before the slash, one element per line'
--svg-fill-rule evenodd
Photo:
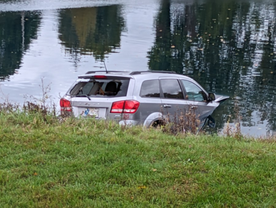
<path fill-rule="evenodd" d="M 161 80 L 161 88 L 165 98 L 184 99 L 178 80 Z"/>

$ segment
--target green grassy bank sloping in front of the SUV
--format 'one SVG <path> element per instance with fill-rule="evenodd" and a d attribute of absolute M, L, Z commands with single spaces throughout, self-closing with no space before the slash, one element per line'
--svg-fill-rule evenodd
<path fill-rule="evenodd" d="M 0 114 L 0 207 L 275 207 L 276 143 Z"/>

